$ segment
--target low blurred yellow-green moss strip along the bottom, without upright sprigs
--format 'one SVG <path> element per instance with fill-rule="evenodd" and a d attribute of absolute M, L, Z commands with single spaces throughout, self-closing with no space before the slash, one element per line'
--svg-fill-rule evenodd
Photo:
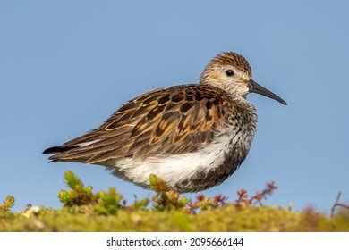
<path fill-rule="evenodd" d="M 236 208 L 188 214 L 180 211 L 123 211 L 98 215 L 90 206 L 42 208 L 29 218 L 22 212 L 0 217 L 0 231 L 349 231 L 349 216 L 329 219 L 317 212 L 273 207 Z"/>

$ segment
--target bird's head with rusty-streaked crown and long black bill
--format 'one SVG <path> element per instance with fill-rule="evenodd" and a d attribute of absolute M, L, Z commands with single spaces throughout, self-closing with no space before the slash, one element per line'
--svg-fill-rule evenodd
<path fill-rule="evenodd" d="M 249 93 L 257 93 L 286 102 L 265 87 L 261 87 L 252 78 L 250 64 L 240 54 L 224 52 L 217 54 L 201 74 L 200 84 L 209 84 L 222 88 L 232 95 L 246 97 Z"/>

